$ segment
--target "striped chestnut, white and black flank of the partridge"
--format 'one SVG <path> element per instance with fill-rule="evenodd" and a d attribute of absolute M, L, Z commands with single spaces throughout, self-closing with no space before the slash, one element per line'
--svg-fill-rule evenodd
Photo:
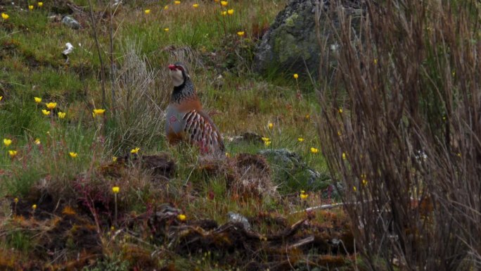
<path fill-rule="evenodd" d="M 203 111 L 188 111 L 184 115 L 186 126 L 184 132 L 192 144 L 197 144 L 200 151 L 224 151 L 224 141 L 212 119 Z"/>

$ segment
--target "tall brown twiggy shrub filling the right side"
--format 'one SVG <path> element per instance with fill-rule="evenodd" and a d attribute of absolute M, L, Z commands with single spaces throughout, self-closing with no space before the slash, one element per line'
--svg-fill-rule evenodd
<path fill-rule="evenodd" d="M 359 25 L 335 11 L 319 134 L 369 270 L 481 268 L 480 8 L 367 1 Z"/>

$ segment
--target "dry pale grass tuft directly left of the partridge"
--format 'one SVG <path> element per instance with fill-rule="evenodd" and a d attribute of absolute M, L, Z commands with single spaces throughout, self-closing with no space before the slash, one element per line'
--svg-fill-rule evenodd
<path fill-rule="evenodd" d="M 163 141 L 163 108 L 169 101 L 167 79 L 139 55 L 134 42 L 127 42 L 115 71 L 115 114 L 106 126 L 114 152 Z"/>

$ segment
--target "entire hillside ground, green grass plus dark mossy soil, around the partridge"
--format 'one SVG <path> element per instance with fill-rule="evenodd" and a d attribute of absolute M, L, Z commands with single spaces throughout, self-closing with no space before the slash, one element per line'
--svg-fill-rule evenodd
<path fill-rule="evenodd" d="M 194 1 L 138 1 L 114 8 L 111 24 L 108 5 L 96 2 L 92 13 L 96 29 L 89 23 L 88 1 L 74 3 L 73 17 L 82 25 L 79 30 L 66 27 L 55 16 L 62 6 L 70 9 L 65 3 L 44 2 L 41 7 L 29 3 L 33 10 L 0 6 L 10 16 L 0 22 L 0 137 L 13 141 L 3 144 L 0 153 L 1 268 L 231 270 L 248 268 L 252 261 L 259 263 L 256 267 L 278 270 L 350 265 L 351 258 L 337 256 L 344 251 L 334 253 L 338 249 L 331 251 L 326 243 L 344 239 L 342 234 L 349 232 L 342 213 L 295 213 L 331 201 L 322 190 L 326 187 L 309 184 L 304 175 L 284 182 L 276 176 L 290 172 L 260 156 L 252 159 L 268 165 L 269 170 L 259 173 L 267 176 L 260 178 L 269 182 L 266 193 L 250 193 L 238 182 L 246 172 L 238 171 L 239 155 L 255 155 L 263 149 L 290 149 L 309 168 L 326 173 L 321 153 L 311 151 L 319 149 L 321 142 L 314 124 L 316 94 L 307 76 L 302 70 L 297 80 L 293 75 L 251 73 L 254 44 L 285 1 L 229 1 L 225 7 L 217 1 L 200 1 L 197 8 Z M 232 15 L 222 15 L 229 9 Z M 104 100 L 94 31 L 105 67 Z M 237 34 L 241 31 L 243 36 Z M 68 63 L 61 54 L 66 42 L 75 46 Z M 146 92 L 111 84 L 111 74 L 133 67 L 126 61 L 129 50 L 146 64 L 132 77 L 154 75 L 141 88 Z M 162 112 L 172 89 L 166 67 L 178 58 L 191 65 L 203 104 L 226 140 L 226 158 L 212 161 L 199 156 L 195 148 L 168 146 L 162 129 L 155 126 L 163 116 L 153 112 Z M 115 76 L 113 80 L 127 82 Z M 114 100 L 111 89 L 117 95 Z M 148 104 L 135 103 L 141 99 L 139 93 L 148 97 Z M 41 97 L 41 103 L 34 97 Z M 41 113 L 46 102 L 57 103 L 50 115 Z M 94 108 L 107 111 L 92 118 Z M 58 112 L 66 113 L 65 118 L 58 118 Z M 130 121 L 122 124 L 122 120 Z M 269 137 L 271 144 L 229 141 L 248 131 Z M 137 147 L 139 156 L 164 153 L 172 158 L 173 175 L 168 179 L 153 175 L 132 156 L 122 158 Z M 17 153 L 13 156 L 8 151 Z M 120 187 L 115 196 L 114 186 Z M 277 192 L 267 193 L 273 187 Z M 299 198 L 300 190 L 309 195 L 307 200 Z M 185 214 L 186 221 L 179 221 L 177 215 L 156 217 L 163 203 Z M 184 246 L 193 228 L 203 229 L 203 234 L 207 231 L 196 223 L 212 220 L 223 225 L 229 212 L 245 215 L 253 230 L 265 235 L 308 220 L 289 240 L 252 243 L 235 232 L 211 232 L 209 240 L 202 239 L 192 248 Z M 284 222 L 269 222 L 276 218 Z M 159 225 L 164 234 L 179 235 L 167 238 L 154 232 Z M 309 246 L 284 251 L 310 235 L 315 241 Z M 234 240 L 257 251 L 239 252 L 231 244 Z"/>

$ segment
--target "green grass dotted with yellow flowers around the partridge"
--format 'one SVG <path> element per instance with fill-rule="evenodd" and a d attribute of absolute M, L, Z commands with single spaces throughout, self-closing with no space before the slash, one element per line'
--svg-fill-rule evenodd
<path fill-rule="evenodd" d="M 88 8 L 87 1 L 75 3 Z M 167 4 L 169 8 L 163 9 Z M 113 56 L 117 68 L 127 67 L 126 49 L 130 48 L 129 44 L 136 44 L 136 53 L 146 56 L 148 70 L 156 75 L 144 89 L 148 90 L 148 98 L 164 109 L 172 89 L 169 78 L 165 78 L 165 69 L 169 61 L 175 60 L 169 46 L 187 46 L 186 58 L 198 58 L 199 63 L 204 64 L 192 63 L 191 77 L 205 110 L 224 135 L 226 152 L 231 159 L 240 153 L 256 154 L 264 149 L 286 148 L 299 154 L 307 167 L 326 172 L 321 153 L 310 151 L 311 147 L 320 149 L 321 144 L 314 124 L 319 106 L 312 86 L 297 84 L 292 75 L 260 77 L 251 73 L 255 39 L 283 8 L 284 1 L 256 0 L 249 4 L 229 1 L 228 8 L 213 1 L 200 2 L 199 8 L 193 8 L 192 4 L 191 1 L 182 1 L 180 5 L 161 1 L 118 8 L 113 20 Z M 103 11 L 105 6 L 95 8 Z M 233 15 L 221 14 L 230 8 L 234 10 Z M 146 9 L 151 10 L 150 14 L 144 13 Z M 107 202 L 108 206 L 113 198 L 110 189 L 118 185 L 121 187 L 119 208 L 125 214 L 143 213 L 149 205 L 171 202 L 184 211 L 189 220 L 212 219 L 219 224 L 227 221 L 228 212 L 245 216 L 274 212 L 286 215 L 291 223 L 302 218 L 302 215 L 290 215 L 302 206 L 291 204 L 291 199 L 286 197 L 297 198 L 300 190 L 314 193 L 324 188 L 307 183 L 305 175 L 286 170 L 268 159 L 271 179 L 279 186 L 279 194 L 242 198 L 231 190 L 229 178 L 224 173 L 200 168 L 204 164 L 198 150 L 167 145 L 163 125 L 155 126 L 158 122 L 154 121 L 162 121 L 163 116 L 153 114 L 149 99 L 135 103 L 132 97 L 122 96 L 123 100 L 119 99 L 112 108 L 108 20 L 99 21 L 97 30 L 106 70 L 107 111 L 105 117 L 92 118 L 91 110 L 102 107 L 102 90 L 101 64 L 89 18 L 81 17 L 82 29 L 72 30 L 49 20 L 47 15 L 51 10 L 47 3 L 44 8 L 36 6 L 33 11 L 19 11 L 8 6 L 6 13 L 11 17 L 0 23 L 5 26 L 0 27 L 0 96 L 4 97 L 0 101 L 0 139 L 13 139 L 10 146 L 0 147 L 0 197 L 17 197 L 22 201 L 32 196 L 32 191 L 41 190 L 59 202 L 79 203 L 82 193 L 91 189 L 101 191 L 98 194 L 101 196 L 93 196 L 93 200 Z M 238 31 L 245 31 L 245 37 L 239 37 Z M 69 63 L 65 63 L 60 53 L 66 42 L 75 46 Z M 219 75 L 222 75 L 221 87 L 215 82 Z M 124 87 L 122 91 L 127 93 L 132 88 Z M 135 91 L 139 94 L 139 90 Z M 302 92 L 302 100 L 297 99 L 297 91 Z M 34 96 L 43 101 L 35 103 Z M 120 89 L 117 89 L 117 99 L 119 96 Z M 135 99 L 140 101 L 137 96 Z M 41 109 L 50 101 L 57 102 L 58 106 L 50 116 L 45 116 Z M 65 119 L 58 118 L 58 111 L 67 114 Z M 269 122 L 274 124 L 271 129 Z M 248 131 L 269 137 L 271 145 L 264 146 L 262 142 L 234 144 L 228 140 Z M 298 141 L 300 137 L 304 141 Z M 35 139 L 41 144 L 35 144 Z M 141 148 L 142 155 L 167 152 L 174 158 L 176 174 L 167 185 L 151 182 L 146 172 L 134 165 L 120 170 L 120 177 L 103 175 L 102 168 L 113 156 L 122 157 L 135 147 Z M 11 157 L 8 150 L 18 153 Z M 70 152 L 77 153 L 77 157 L 70 157 Z M 81 188 L 85 191 L 79 191 L 79 182 L 85 182 Z M 206 200 L 211 195 L 214 200 Z M 320 203 L 316 196 L 309 201 L 310 204 Z M 113 206 L 108 208 L 101 214 L 103 218 L 112 217 Z M 280 230 L 265 223 L 256 227 L 260 232 Z M 101 234 L 108 232 L 108 225 L 101 225 L 101 231 Z M 13 248 L 27 256 L 35 241 L 28 240 L 25 232 L 27 230 L 20 229 L 8 240 L 0 237 L 1 247 Z M 106 234 L 102 236 L 108 239 Z M 123 260 L 126 255 L 117 245 L 105 243 L 103 259 L 85 270 L 131 268 L 132 263 Z M 201 266 L 207 269 L 224 270 L 202 257 L 173 258 L 179 261 L 177 266 L 192 267 L 200 260 Z"/>

